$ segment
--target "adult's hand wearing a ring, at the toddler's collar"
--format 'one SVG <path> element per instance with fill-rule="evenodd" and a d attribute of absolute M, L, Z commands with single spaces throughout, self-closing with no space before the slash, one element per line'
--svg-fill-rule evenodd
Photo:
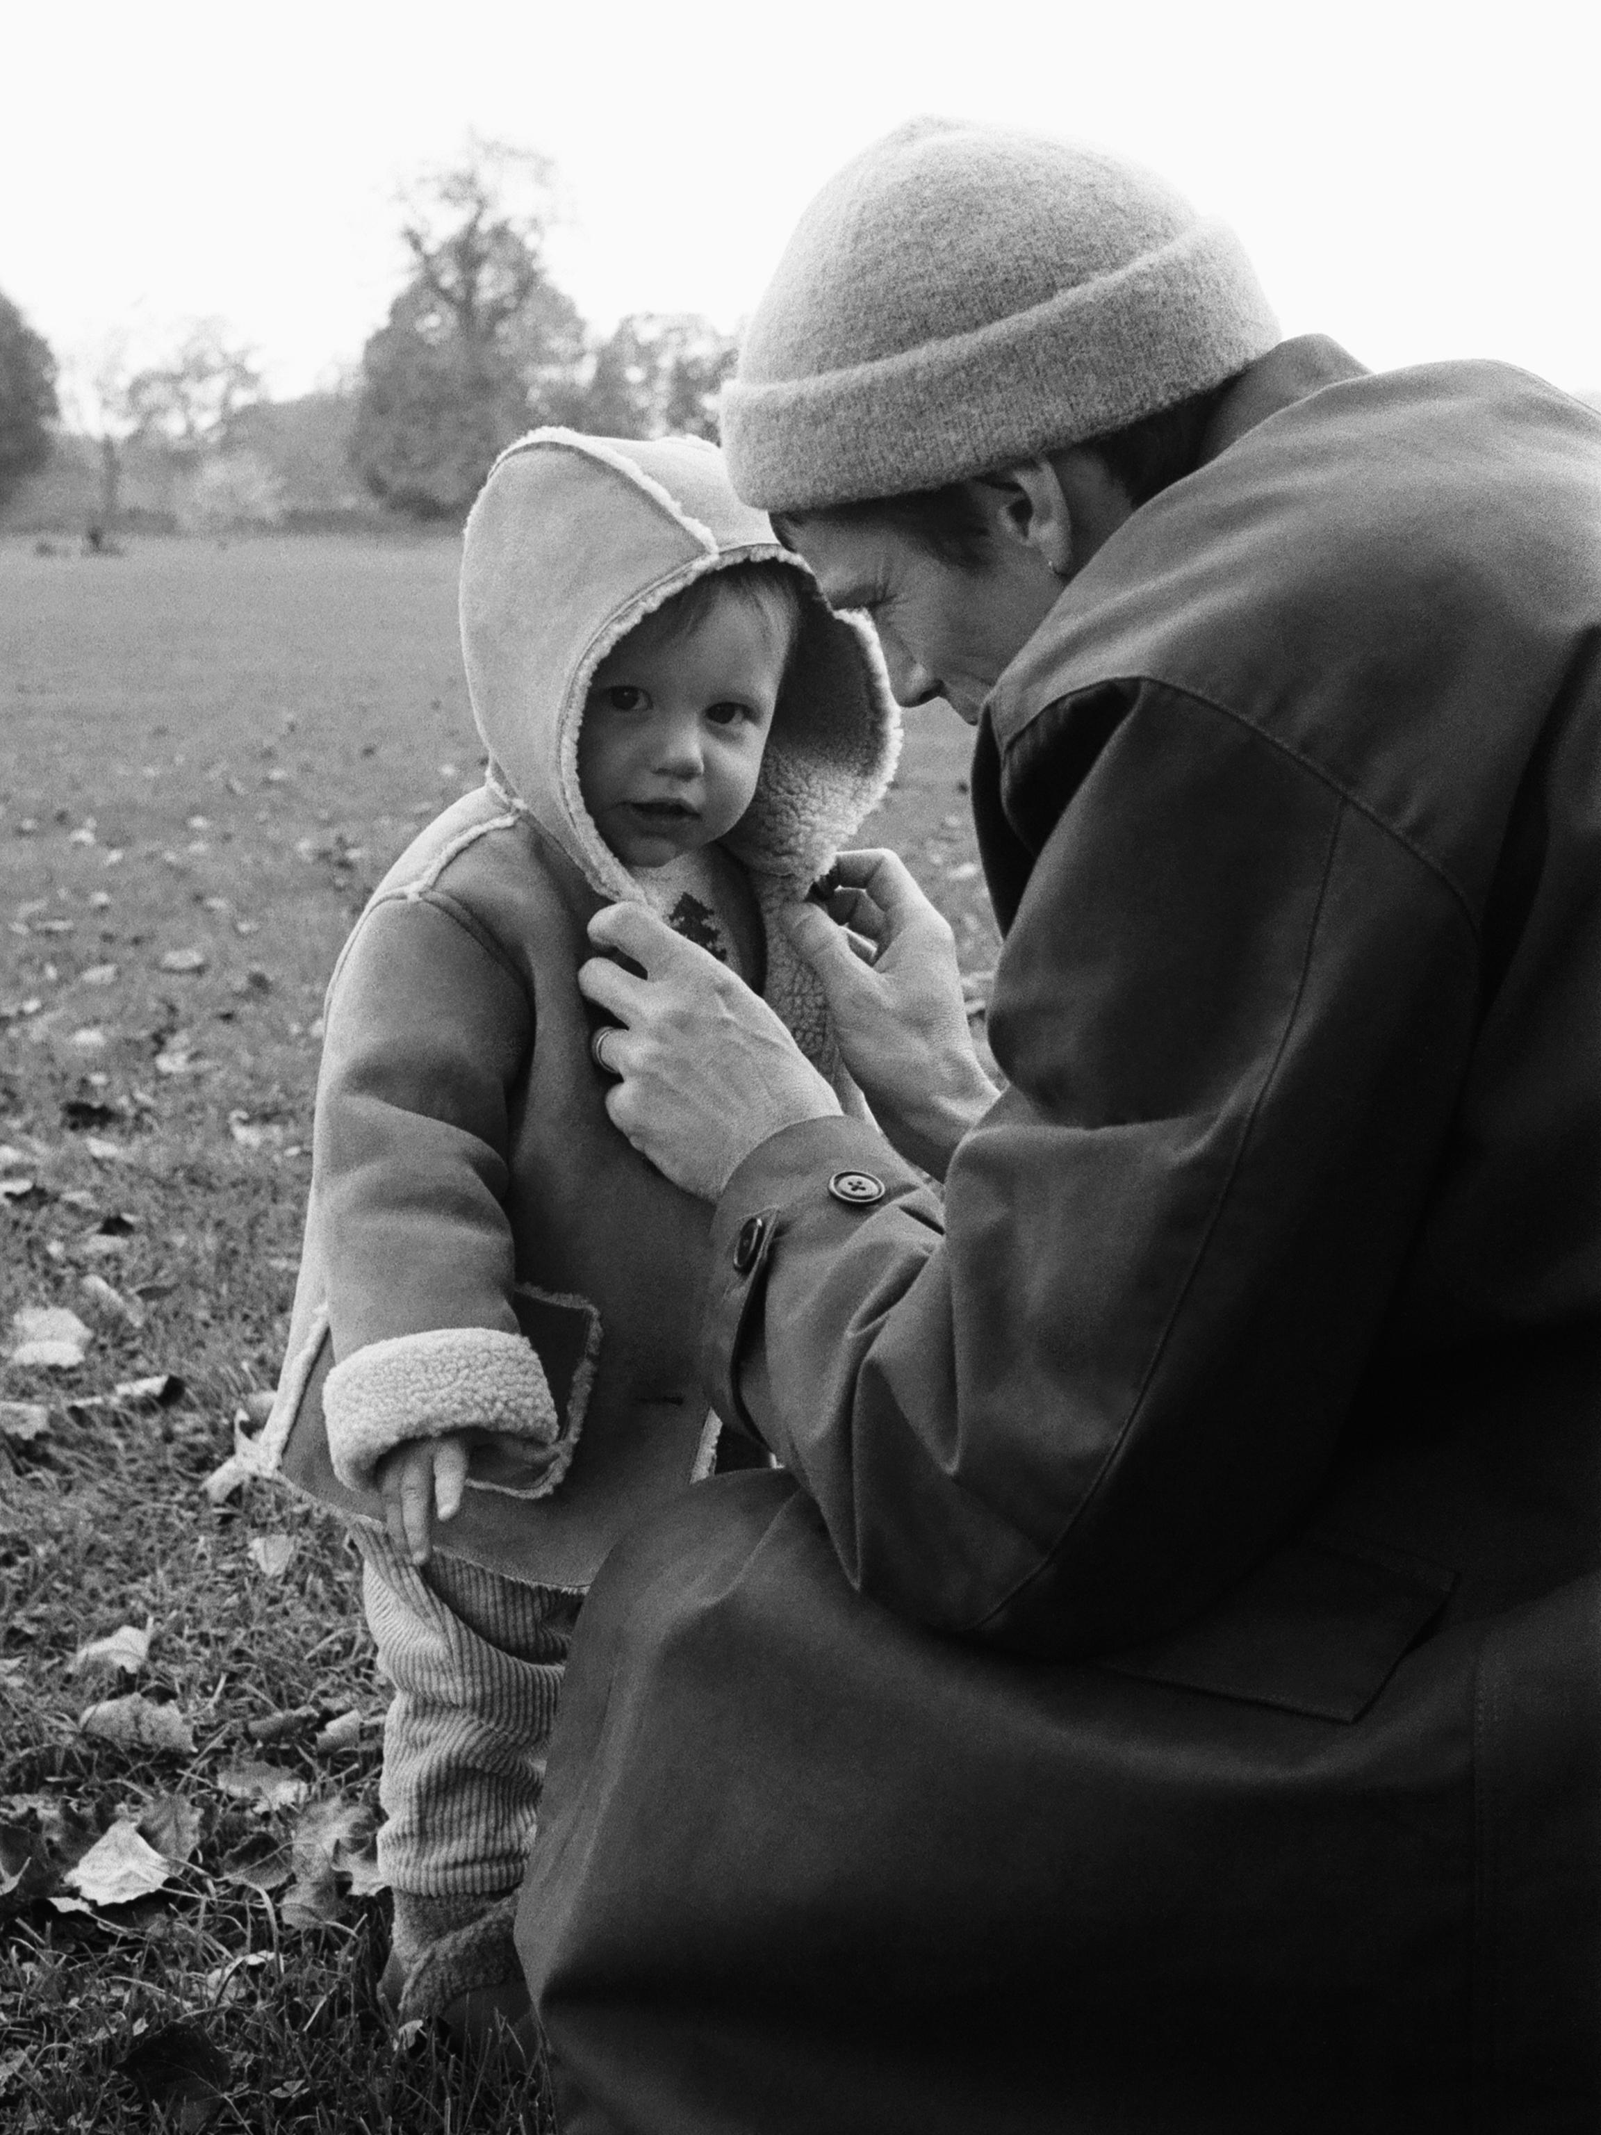
<path fill-rule="evenodd" d="M 645 971 L 593 956 L 578 986 L 617 1025 L 604 1042 L 613 1125 L 675 1185 L 717 1200 L 771 1134 L 839 1112 L 766 1001 L 645 905 L 606 905 L 589 939 Z"/>

